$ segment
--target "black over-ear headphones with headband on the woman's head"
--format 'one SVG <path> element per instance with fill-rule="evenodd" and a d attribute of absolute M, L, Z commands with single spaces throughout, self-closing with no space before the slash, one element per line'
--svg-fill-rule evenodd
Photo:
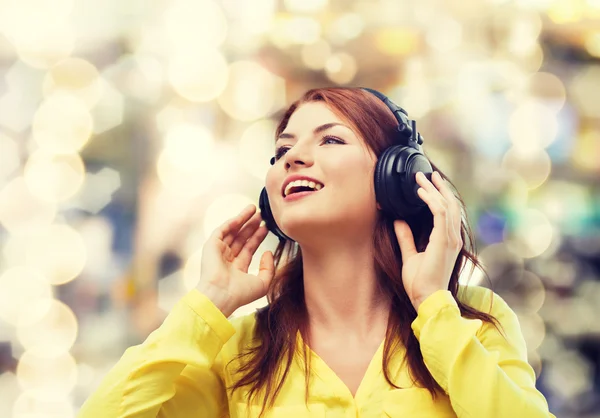
<path fill-rule="evenodd" d="M 417 214 L 427 204 L 417 194 L 419 185 L 416 174 L 421 171 L 431 181 L 433 168 L 423 154 L 423 137 L 417 132 L 416 122 L 408 119 L 408 113 L 377 90 L 362 88 L 379 98 L 392 111 L 398 127 L 397 145 L 387 148 L 377 160 L 375 167 L 375 197 L 381 209 L 393 219 L 405 219 Z M 275 157 L 271 158 L 271 165 Z M 260 192 L 259 208 L 266 227 L 280 240 L 290 240 L 277 226 L 265 188 Z"/>

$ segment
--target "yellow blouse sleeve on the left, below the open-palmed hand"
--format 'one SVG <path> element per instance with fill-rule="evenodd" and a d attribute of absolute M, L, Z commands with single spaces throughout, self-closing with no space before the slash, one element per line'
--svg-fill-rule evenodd
<path fill-rule="evenodd" d="M 235 334 L 225 315 L 194 289 L 140 345 L 128 348 L 81 407 L 79 418 L 227 415 L 223 345 Z"/>

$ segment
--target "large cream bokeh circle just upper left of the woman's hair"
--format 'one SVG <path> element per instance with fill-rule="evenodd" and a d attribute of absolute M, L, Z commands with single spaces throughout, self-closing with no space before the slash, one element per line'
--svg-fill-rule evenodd
<path fill-rule="evenodd" d="M 229 82 L 219 104 L 230 117 L 253 121 L 285 102 L 284 81 L 256 62 L 238 61 L 229 69 Z"/>

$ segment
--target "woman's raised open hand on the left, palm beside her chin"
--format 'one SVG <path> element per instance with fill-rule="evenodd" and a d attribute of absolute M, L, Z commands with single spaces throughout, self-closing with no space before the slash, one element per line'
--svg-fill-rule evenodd
<path fill-rule="evenodd" d="M 229 316 L 240 306 L 265 296 L 275 274 L 273 254 L 260 258 L 257 275 L 248 274 L 252 256 L 268 233 L 255 205 L 215 229 L 202 250 L 198 290 Z"/>

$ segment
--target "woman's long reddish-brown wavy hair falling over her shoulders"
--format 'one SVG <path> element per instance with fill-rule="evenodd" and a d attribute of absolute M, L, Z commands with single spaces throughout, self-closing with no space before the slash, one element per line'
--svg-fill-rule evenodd
<path fill-rule="evenodd" d="M 303 103 L 324 102 L 336 115 L 350 125 L 364 139 L 366 145 L 379 157 L 389 146 L 395 145 L 393 131 L 397 121 L 392 112 L 378 98 L 358 88 L 322 88 L 309 90 L 294 102 L 276 129 L 275 138 L 286 128 L 294 111 Z M 433 169 L 448 178 L 432 163 Z M 449 180 L 448 180 L 449 181 Z M 454 186 L 451 182 L 450 184 Z M 458 297 L 458 279 L 467 260 L 475 266 L 483 266 L 475 255 L 475 242 L 466 217 L 464 201 L 456 192 L 462 206 L 461 237 L 463 247 L 457 257 L 448 290 L 456 298 L 461 315 L 466 318 L 480 319 L 498 327 L 499 323 L 490 314 L 480 312 L 462 303 Z M 426 207 L 418 215 L 406 219 L 412 229 L 418 251 L 424 251 L 433 229 L 433 214 Z M 393 219 L 379 211 L 373 231 L 373 257 L 378 284 L 391 297 L 391 311 L 388 319 L 383 353 L 383 372 L 387 382 L 395 387 L 390 379 L 388 364 L 397 344 L 405 347 L 403 359 L 408 365 L 414 384 L 428 389 L 435 398 L 441 390 L 423 362 L 419 341 L 411 329 L 411 323 L 417 317 L 402 283 L 402 255 L 394 232 Z M 297 352 L 297 333 L 308 336 L 308 315 L 304 301 L 304 283 L 302 271 L 302 251 L 293 241 L 281 240 L 274 253 L 276 274 L 267 291 L 268 305 L 258 309 L 254 342 L 238 354 L 232 361 L 239 361 L 239 380 L 228 388 L 233 391 L 247 386 L 247 402 L 263 393 L 262 417 L 266 408 L 273 407 L 275 399 L 283 387 L 290 370 L 294 354 Z M 310 382 L 310 356 L 306 345 L 302 347 L 305 367 L 306 402 Z M 281 367 L 284 366 L 284 370 Z"/>

